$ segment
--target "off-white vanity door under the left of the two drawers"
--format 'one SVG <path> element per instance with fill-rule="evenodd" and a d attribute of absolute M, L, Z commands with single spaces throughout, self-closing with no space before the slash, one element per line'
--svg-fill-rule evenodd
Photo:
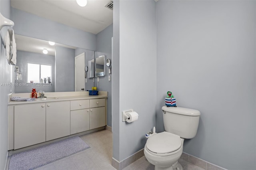
<path fill-rule="evenodd" d="M 89 109 L 70 111 L 70 134 L 89 130 Z"/>

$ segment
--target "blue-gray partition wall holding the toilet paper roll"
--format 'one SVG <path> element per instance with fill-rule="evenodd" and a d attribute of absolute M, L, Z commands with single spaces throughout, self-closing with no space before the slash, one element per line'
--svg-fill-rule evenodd
<path fill-rule="evenodd" d="M 119 2 L 119 53 L 114 23 L 112 77 L 113 83 L 119 83 L 120 88 L 119 100 L 116 98 L 117 93 L 113 93 L 113 90 L 118 89 L 112 89 L 113 103 L 119 105 L 119 110 L 118 107 L 112 107 L 113 121 L 119 123 L 113 125 L 113 157 L 119 161 L 144 147 L 145 134 L 156 123 L 156 3 L 153 0 L 135 2 Z M 115 11 L 118 5 L 114 4 Z M 115 15 L 114 12 L 114 22 Z M 114 67 L 118 64 L 114 62 L 118 56 L 119 80 L 116 77 L 118 74 L 114 73 Z M 138 121 L 122 122 L 122 111 L 128 109 L 138 113 Z"/>

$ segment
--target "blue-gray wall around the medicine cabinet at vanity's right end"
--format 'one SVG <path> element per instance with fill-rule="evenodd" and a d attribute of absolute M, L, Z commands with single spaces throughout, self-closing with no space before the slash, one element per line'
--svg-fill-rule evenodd
<path fill-rule="evenodd" d="M 98 56 L 105 55 L 106 59 L 111 59 L 112 57 L 112 45 L 111 45 L 111 38 L 113 37 L 113 24 L 102 30 L 96 35 L 96 48 L 98 51 Z M 97 56 L 97 57 L 98 57 Z M 108 91 L 108 115 L 107 115 L 107 125 L 112 127 L 112 91 L 111 85 L 112 81 L 108 81 L 108 76 L 111 77 L 111 74 L 108 74 L 108 67 L 105 65 L 105 76 L 99 77 L 99 82 L 96 82 L 96 86 L 100 91 Z"/>

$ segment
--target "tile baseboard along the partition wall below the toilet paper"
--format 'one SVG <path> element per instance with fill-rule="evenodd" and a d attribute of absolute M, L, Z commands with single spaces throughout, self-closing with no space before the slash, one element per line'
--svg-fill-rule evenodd
<path fill-rule="evenodd" d="M 120 162 L 118 160 L 116 160 L 115 158 L 112 158 L 112 166 L 114 168 L 116 168 L 117 170 L 122 170 L 126 166 L 128 166 L 128 165 L 132 164 L 133 162 L 135 162 L 136 160 L 140 159 L 142 156 L 144 156 L 144 148 Z"/>

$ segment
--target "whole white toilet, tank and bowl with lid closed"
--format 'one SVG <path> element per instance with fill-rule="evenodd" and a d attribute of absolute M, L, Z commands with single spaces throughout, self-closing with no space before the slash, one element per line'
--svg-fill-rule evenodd
<path fill-rule="evenodd" d="M 183 107 L 162 107 L 164 132 L 149 136 L 144 155 L 155 170 L 182 170 L 178 162 L 184 139 L 196 136 L 200 111 Z"/>

